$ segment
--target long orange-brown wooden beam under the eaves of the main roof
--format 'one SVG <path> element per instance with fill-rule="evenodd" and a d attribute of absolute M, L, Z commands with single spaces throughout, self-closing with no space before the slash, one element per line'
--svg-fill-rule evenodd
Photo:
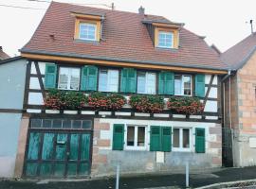
<path fill-rule="evenodd" d="M 216 74 L 224 75 L 228 74 L 226 70 L 213 70 L 213 69 L 201 69 L 201 68 L 187 68 L 169 65 L 156 65 L 156 64 L 142 64 L 142 63 L 132 63 L 124 61 L 109 61 L 109 60 L 90 60 L 90 59 L 80 59 L 71 57 L 60 57 L 51 55 L 38 55 L 30 53 L 21 53 L 21 56 L 32 60 L 48 60 L 48 61 L 66 61 L 72 63 L 82 63 L 82 64 L 98 64 L 98 65 L 108 65 L 108 66 L 119 66 L 119 67 L 133 67 L 141 69 L 151 69 L 151 70 L 170 70 L 175 72 L 188 72 L 188 73 L 204 73 L 204 74 Z"/>

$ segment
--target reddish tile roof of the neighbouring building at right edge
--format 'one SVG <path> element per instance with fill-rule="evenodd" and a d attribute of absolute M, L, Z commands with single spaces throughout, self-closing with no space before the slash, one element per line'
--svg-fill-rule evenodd
<path fill-rule="evenodd" d="M 249 35 L 222 53 L 221 60 L 228 63 L 232 69 L 239 69 L 256 50 L 256 33 Z"/>

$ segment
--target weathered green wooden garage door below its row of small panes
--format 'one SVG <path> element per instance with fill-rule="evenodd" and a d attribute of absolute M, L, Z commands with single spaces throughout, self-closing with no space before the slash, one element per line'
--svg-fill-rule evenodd
<path fill-rule="evenodd" d="M 31 131 L 27 142 L 28 177 L 79 177 L 90 172 L 91 133 Z"/>

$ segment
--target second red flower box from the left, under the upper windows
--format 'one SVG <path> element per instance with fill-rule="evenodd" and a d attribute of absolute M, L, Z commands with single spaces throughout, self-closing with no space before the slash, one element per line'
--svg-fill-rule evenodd
<path fill-rule="evenodd" d="M 119 111 L 125 104 L 124 96 L 120 94 L 94 93 L 88 97 L 88 105 L 93 109 Z"/>

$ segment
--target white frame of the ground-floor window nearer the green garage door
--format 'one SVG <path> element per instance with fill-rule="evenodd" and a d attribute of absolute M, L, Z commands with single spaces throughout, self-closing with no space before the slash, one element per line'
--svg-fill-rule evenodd
<path fill-rule="evenodd" d="M 128 132 L 128 127 L 135 127 L 135 146 L 127 146 L 127 132 Z M 145 128 L 145 146 L 137 146 L 137 128 L 139 127 L 144 127 Z M 146 151 L 149 149 L 149 127 L 147 125 L 132 125 L 132 124 L 127 124 L 125 125 L 124 128 L 124 150 L 143 150 Z"/>

